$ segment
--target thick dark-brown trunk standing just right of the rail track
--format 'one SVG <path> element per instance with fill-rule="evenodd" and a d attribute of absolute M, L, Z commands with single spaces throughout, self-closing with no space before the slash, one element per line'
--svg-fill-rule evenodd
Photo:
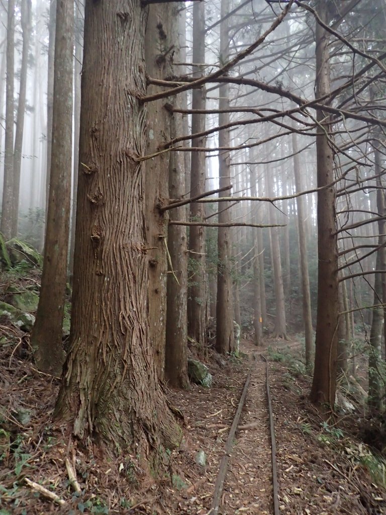
<path fill-rule="evenodd" d="M 328 6 L 318 2 L 320 19 L 328 24 Z M 319 98 L 330 92 L 330 67 L 328 32 L 318 23 L 316 40 L 316 93 Z M 327 134 L 330 134 L 329 117 L 317 111 L 317 179 L 318 188 L 334 181 L 334 151 Z M 310 394 L 311 402 L 335 403 L 337 348 L 338 348 L 338 255 L 335 187 L 318 191 L 318 311 L 315 337 L 315 365 Z"/>

